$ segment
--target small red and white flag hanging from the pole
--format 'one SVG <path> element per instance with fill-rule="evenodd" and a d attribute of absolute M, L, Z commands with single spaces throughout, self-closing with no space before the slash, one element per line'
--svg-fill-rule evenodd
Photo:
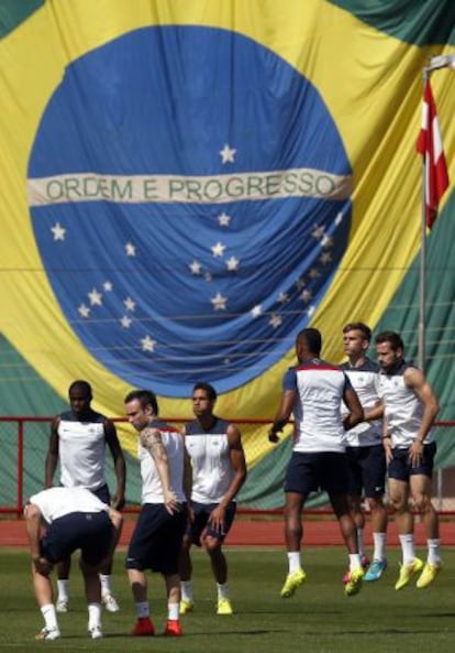
<path fill-rule="evenodd" d="M 422 127 L 417 150 L 424 157 L 425 221 L 431 229 L 437 216 L 441 197 L 448 187 L 448 173 L 430 78 L 423 94 Z"/>

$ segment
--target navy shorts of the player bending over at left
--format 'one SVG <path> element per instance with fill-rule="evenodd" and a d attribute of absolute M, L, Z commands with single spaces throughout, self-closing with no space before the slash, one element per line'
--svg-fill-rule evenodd
<path fill-rule="evenodd" d="M 51 563 L 58 563 L 80 548 L 85 563 L 99 565 L 108 555 L 113 532 L 107 512 L 73 512 L 48 525 L 41 538 L 41 555 Z"/>

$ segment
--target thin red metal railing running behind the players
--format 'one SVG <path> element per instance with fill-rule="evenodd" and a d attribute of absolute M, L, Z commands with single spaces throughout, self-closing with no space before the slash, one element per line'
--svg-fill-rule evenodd
<path fill-rule="evenodd" d="M 24 425 L 27 423 L 48 423 L 51 424 L 53 417 L 26 417 L 26 416 L 0 416 L 0 422 L 12 422 L 18 425 L 16 434 L 18 434 L 18 468 L 16 468 L 16 504 L 15 505 L 0 505 L 0 514 L 16 514 L 20 516 L 23 510 L 23 487 L 24 487 Z M 170 423 L 186 423 L 191 420 L 191 417 L 185 418 L 164 418 L 166 422 Z M 126 422 L 124 417 L 115 417 L 112 418 L 113 422 Z M 234 424 L 257 424 L 257 425 L 266 425 L 270 424 L 271 420 L 253 420 L 253 418 L 244 418 L 244 420 L 231 420 Z M 435 426 L 443 427 L 443 426 L 455 426 L 455 421 L 441 421 L 436 422 Z M 0 443 L 1 445 L 1 443 Z M 441 471 L 441 470 L 440 470 Z M 137 507 L 126 507 L 124 512 L 137 512 Z M 257 509 L 248 509 L 248 508 L 240 508 L 238 512 L 243 514 L 279 514 L 281 513 L 281 509 L 271 509 L 271 510 L 257 510 Z M 315 514 L 331 514 L 332 510 L 330 509 L 314 509 L 308 510 L 306 512 L 315 513 Z M 455 514 L 455 510 L 440 510 L 444 514 Z"/>

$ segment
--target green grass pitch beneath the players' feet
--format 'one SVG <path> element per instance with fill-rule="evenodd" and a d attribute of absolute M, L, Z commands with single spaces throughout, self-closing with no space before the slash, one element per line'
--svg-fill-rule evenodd
<path fill-rule="evenodd" d="M 45 646 L 53 652 L 109 651 L 134 653 L 452 653 L 455 642 L 455 553 L 445 552 L 445 568 L 433 587 L 409 586 L 395 591 L 398 549 L 389 554 L 389 569 L 376 584 L 365 584 L 352 598 L 343 594 L 345 553 L 337 548 L 304 552 L 308 580 L 296 596 L 278 592 L 286 575 L 282 551 L 226 549 L 231 569 L 232 617 L 214 614 L 214 585 L 202 552 L 193 555 L 195 612 L 182 618 L 185 636 L 134 639 L 127 635 L 134 609 L 116 554 L 115 596 L 122 610 L 103 616 L 104 639 L 91 641 L 80 575 L 71 578 L 71 611 L 60 616 L 63 638 L 34 642 L 43 623 L 35 605 L 24 552 L 0 549 L 0 651 L 26 653 Z M 149 577 L 152 618 L 160 628 L 166 618 L 164 583 Z"/>

